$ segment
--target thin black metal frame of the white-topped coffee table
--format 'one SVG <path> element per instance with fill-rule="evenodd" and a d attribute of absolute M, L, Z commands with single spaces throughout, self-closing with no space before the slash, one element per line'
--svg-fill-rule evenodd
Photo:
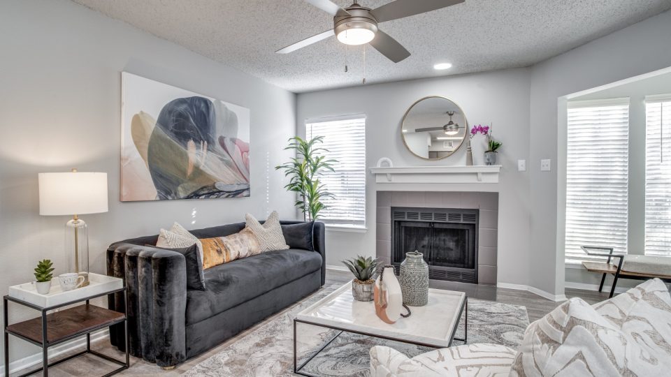
<path fill-rule="evenodd" d="M 452 346 L 452 341 L 463 341 L 464 343 L 466 343 L 466 341 L 468 339 L 468 296 L 464 297 L 464 300 L 461 303 L 461 308 L 459 309 L 459 319 L 461 319 L 461 316 L 464 317 L 463 318 L 463 338 L 455 338 L 454 337 L 454 335 L 456 334 L 456 329 L 459 327 L 459 320 L 456 320 L 454 328 L 452 329 L 452 332 L 449 336 L 448 346 Z M 324 327 L 324 328 L 327 328 L 327 329 L 338 331 L 338 334 L 335 334 L 335 336 L 333 338 L 331 338 L 331 340 L 324 343 L 324 346 L 319 348 L 319 350 L 317 350 L 315 353 L 312 353 L 312 355 L 310 357 L 308 357 L 308 360 L 305 360 L 305 362 L 303 362 L 300 366 L 298 365 L 298 353 L 297 353 L 297 350 L 296 350 L 296 341 L 297 341 L 296 327 L 297 327 L 298 323 L 304 323 L 306 325 Z M 305 365 L 308 365 L 308 363 L 311 362 L 312 359 L 317 357 L 317 355 L 319 355 L 319 353 L 322 353 L 324 348 L 328 347 L 331 343 L 333 343 L 333 341 L 335 341 L 335 339 L 337 339 L 340 336 L 340 334 L 342 334 L 343 332 L 350 332 L 352 334 L 366 335 L 367 337 L 385 339 L 385 340 L 390 340 L 390 341 L 398 341 L 398 342 L 401 342 L 401 343 L 413 344 L 415 346 L 424 346 L 424 347 L 430 347 L 430 348 L 443 348 L 442 346 L 435 346 L 435 344 L 422 343 L 422 342 L 418 342 L 418 341 L 409 341 L 407 339 L 402 339 L 402 338 L 397 338 L 397 337 L 387 337 L 387 336 L 384 336 L 384 335 L 375 335 L 375 334 L 370 334 L 368 332 L 348 330 L 348 329 L 338 327 L 338 326 L 324 325 L 322 323 L 313 323 L 313 322 L 310 322 L 310 321 L 307 321 L 307 320 L 299 320 L 297 318 L 294 318 L 294 374 L 298 374 L 298 375 L 306 376 L 306 377 L 319 377 L 319 376 L 314 376 L 312 374 L 306 374 L 305 372 L 301 371 L 301 369 L 303 369 L 305 367 Z"/>

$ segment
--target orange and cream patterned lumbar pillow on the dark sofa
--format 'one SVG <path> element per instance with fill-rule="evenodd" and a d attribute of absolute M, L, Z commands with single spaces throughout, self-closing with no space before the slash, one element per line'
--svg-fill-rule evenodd
<path fill-rule="evenodd" d="M 201 243 L 203 269 L 261 253 L 259 240 L 247 229 L 226 237 L 202 238 Z"/>

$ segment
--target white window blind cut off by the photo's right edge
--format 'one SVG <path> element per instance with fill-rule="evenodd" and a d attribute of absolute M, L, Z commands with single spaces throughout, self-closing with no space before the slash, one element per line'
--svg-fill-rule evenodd
<path fill-rule="evenodd" d="M 645 253 L 671 255 L 671 96 L 645 103 Z"/>

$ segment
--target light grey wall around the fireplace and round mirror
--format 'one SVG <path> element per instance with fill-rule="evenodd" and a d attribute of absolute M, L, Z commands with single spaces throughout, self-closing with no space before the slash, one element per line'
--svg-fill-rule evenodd
<path fill-rule="evenodd" d="M 401 119 L 414 101 L 430 95 L 458 103 L 470 124 L 494 124 L 503 142 L 499 153 L 503 169 L 500 184 L 414 185 L 403 191 L 500 191 L 498 229 L 498 281 L 528 283 L 528 174 L 517 172 L 517 159 L 528 158 L 529 70 L 526 68 L 474 75 L 366 85 L 298 94 L 297 133 L 305 133 L 305 119 L 343 114 L 366 114 L 366 167 L 389 157 L 395 166 L 463 165 L 466 147 L 440 161 L 424 161 L 407 151 L 401 140 Z M 474 142 L 476 140 L 474 139 Z M 481 145 L 484 139 L 477 140 Z M 484 150 L 479 148 L 480 151 Z M 482 157 L 478 156 L 480 161 Z M 326 263 L 357 254 L 375 256 L 375 177 L 366 170 L 366 224 L 368 232 L 328 231 Z M 394 188 L 383 188 L 394 190 Z"/>

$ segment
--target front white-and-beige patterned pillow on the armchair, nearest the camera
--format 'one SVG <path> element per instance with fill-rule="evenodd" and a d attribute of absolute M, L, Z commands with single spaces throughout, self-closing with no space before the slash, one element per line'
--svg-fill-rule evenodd
<path fill-rule="evenodd" d="M 572 298 L 529 325 L 510 375 L 665 375 L 671 369 L 668 343 L 654 331 L 642 335 L 651 340 L 647 349 L 582 299 Z"/>

